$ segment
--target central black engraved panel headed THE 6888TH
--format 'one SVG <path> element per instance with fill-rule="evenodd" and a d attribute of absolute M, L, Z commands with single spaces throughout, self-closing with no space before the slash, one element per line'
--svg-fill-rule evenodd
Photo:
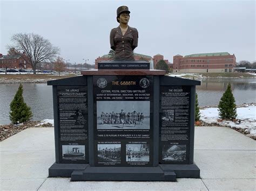
<path fill-rule="evenodd" d="M 93 76 L 95 166 L 152 166 L 153 77 Z"/>

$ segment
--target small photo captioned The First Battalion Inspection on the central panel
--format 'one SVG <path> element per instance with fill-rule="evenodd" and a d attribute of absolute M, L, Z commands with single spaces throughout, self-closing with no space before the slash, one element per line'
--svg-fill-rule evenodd
<path fill-rule="evenodd" d="M 121 144 L 98 144 L 98 162 L 120 162 Z"/>

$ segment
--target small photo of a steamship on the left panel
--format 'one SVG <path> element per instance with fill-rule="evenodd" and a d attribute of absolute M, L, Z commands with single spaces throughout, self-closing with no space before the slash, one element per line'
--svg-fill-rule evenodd
<path fill-rule="evenodd" d="M 63 159 L 85 159 L 85 145 L 62 145 Z"/>

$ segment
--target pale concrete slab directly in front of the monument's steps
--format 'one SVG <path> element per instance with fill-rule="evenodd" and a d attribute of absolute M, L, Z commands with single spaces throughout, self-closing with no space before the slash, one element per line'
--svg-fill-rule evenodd
<path fill-rule="evenodd" d="M 207 190 L 200 179 L 178 179 L 177 182 L 78 181 L 48 178 L 39 190 Z"/>

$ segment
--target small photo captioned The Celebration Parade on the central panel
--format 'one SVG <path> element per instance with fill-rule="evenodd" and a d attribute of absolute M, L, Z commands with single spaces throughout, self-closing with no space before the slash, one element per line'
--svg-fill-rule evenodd
<path fill-rule="evenodd" d="M 149 162 L 149 144 L 126 144 L 126 162 Z"/>

